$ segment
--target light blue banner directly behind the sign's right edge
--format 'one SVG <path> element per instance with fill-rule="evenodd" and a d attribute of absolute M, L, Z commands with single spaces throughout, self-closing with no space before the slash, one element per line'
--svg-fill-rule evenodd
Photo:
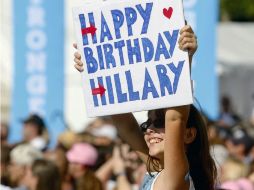
<path fill-rule="evenodd" d="M 192 64 L 194 96 L 212 119 L 218 116 L 218 76 L 216 74 L 216 27 L 219 1 L 184 0 L 185 17 L 198 37 L 198 51 Z"/>

